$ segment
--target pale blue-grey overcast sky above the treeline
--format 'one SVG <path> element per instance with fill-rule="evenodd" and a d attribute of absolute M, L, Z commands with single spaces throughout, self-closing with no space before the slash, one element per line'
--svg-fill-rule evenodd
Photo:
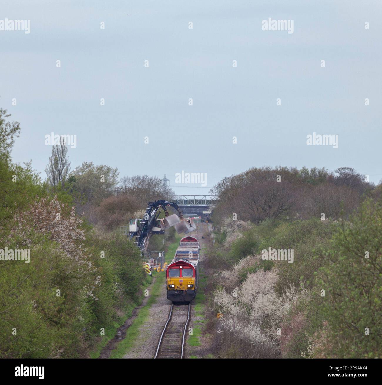
<path fill-rule="evenodd" d="M 77 136 L 72 169 L 93 161 L 171 185 L 207 173 L 178 194 L 264 165 L 348 166 L 378 182 L 381 11 L 379 0 L 2 1 L 0 20 L 30 20 L 30 33 L 0 31 L 0 106 L 22 127 L 13 160 L 45 179 L 54 132 Z M 293 33 L 262 30 L 268 18 L 293 20 Z M 308 146 L 313 132 L 338 135 L 338 148 Z"/>

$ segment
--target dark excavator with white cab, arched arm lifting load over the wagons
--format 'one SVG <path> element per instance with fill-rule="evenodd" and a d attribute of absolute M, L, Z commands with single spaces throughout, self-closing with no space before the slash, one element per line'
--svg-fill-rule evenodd
<path fill-rule="evenodd" d="M 167 208 L 172 207 L 177 214 L 170 215 Z M 159 219 L 160 209 L 163 209 L 165 218 Z M 137 248 L 146 251 L 150 237 L 153 234 L 164 234 L 165 229 L 175 226 L 178 234 L 190 233 L 196 229 L 193 218 L 184 219 L 183 213 L 174 202 L 157 200 L 147 202 L 147 209 L 142 219 L 132 218 L 129 224 L 129 239 L 132 239 Z"/>

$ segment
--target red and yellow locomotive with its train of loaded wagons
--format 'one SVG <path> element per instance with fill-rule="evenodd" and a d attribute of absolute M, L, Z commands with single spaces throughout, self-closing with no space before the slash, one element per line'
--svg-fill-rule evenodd
<path fill-rule="evenodd" d="M 175 257 L 166 269 L 167 299 L 172 302 L 191 302 L 199 280 L 199 242 L 187 236 L 180 239 Z"/>

